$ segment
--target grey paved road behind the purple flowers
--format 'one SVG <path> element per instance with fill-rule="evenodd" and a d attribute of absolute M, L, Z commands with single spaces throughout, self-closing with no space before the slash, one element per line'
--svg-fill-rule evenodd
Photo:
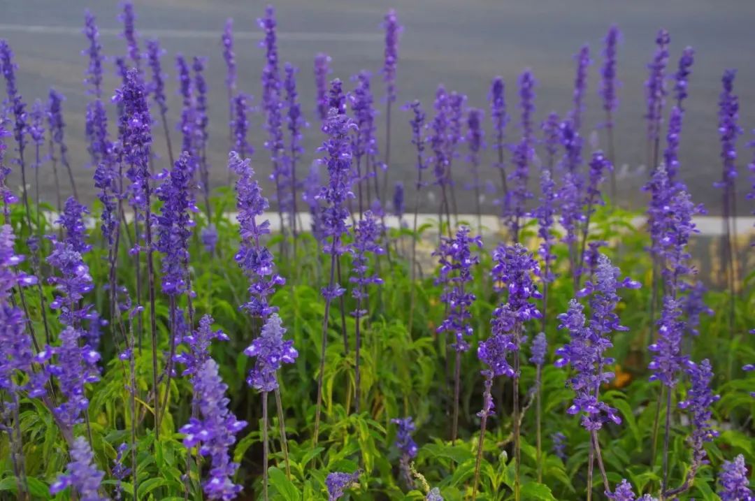
<path fill-rule="evenodd" d="M 377 72 L 383 50 L 380 23 L 384 12 L 391 6 L 396 7 L 405 26 L 399 64 L 400 101 L 419 97 L 429 108 L 436 85 L 443 82 L 447 88 L 468 94 L 470 106 L 486 106 L 490 78 L 500 74 L 510 86 L 507 99 L 513 103 L 516 77 L 522 69 L 531 67 L 538 78 L 538 117 L 550 110 L 563 112 L 570 106 L 574 73 L 572 54 L 587 42 L 597 60 L 591 68 L 589 109 L 585 120 L 591 128 L 601 120 L 595 91 L 602 37 L 610 23 L 618 23 L 624 32 L 624 41 L 619 54 L 619 78 L 623 81 L 623 88 L 617 123 L 617 158 L 619 164 L 629 165 L 630 171 L 645 161 L 645 65 L 654 49 L 656 30 L 660 26 L 669 29 L 674 65 L 686 45 L 694 46 L 697 51 L 682 143 L 683 175 L 693 196 L 704 201 L 712 213 L 718 212 L 720 195 L 711 185 L 720 177 L 716 101 L 723 69 L 739 69 L 736 88 L 741 97 L 741 124 L 747 131 L 755 128 L 755 65 L 752 63 L 755 2 L 727 0 L 724 8 L 709 0 L 394 0 L 391 4 L 384 0 L 282 0 L 276 2 L 281 34 L 280 57 L 301 68 L 300 93 L 310 118 L 313 118 L 311 68 L 314 54 L 319 51 L 331 54 L 334 76 L 344 79 L 362 68 Z M 51 86 L 66 94 L 67 134 L 75 174 L 82 191 L 91 197 L 92 190 L 83 188 L 88 186 L 91 171 L 85 169 L 87 155 L 83 143 L 83 110 L 88 98 L 81 82 L 87 62 L 80 55 L 85 48 L 80 29 L 87 7 L 97 16 L 106 53 L 122 54 L 125 42 L 118 36 L 119 3 L 112 0 L 2 0 L 0 37 L 8 38 L 14 48 L 20 66 L 19 84 L 27 100 L 45 98 Z M 136 2 L 135 7 L 137 29 L 141 35 L 158 36 L 168 50 L 164 61 L 170 74 L 171 121 L 177 121 L 178 106 L 174 90 L 174 55 L 181 52 L 210 58 L 211 162 L 215 173 L 213 183 L 220 185 L 226 180 L 223 164 L 227 155 L 227 104 L 220 31 L 226 18 L 233 17 L 240 87 L 258 96 L 263 57 L 257 47 L 256 18 L 262 14 L 264 3 L 149 0 Z M 106 81 L 108 92 L 115 85 L 116 78 L 111 75 Z M 382 89 L 379 81 L 374 82 L 374 88 Z M 392 176 L 411 183 L 414 170 L 408 145 L 408 125 L 405 115 L 397 115 Z M 254 118 L 254 127 L 251 139 L 258 150 L 255 158 L 260 171 L 267 174 L 258 117 Z M 742 174 L 738 186 L 741 195 L 747 192 L 744 165 L 750 152 L 744 148 L 744 143 L 749 139 L 747 134 L 741 140 Z M 321 140 L 322 136 L 313 123 L 307 131 L 307 158 L 312 158 L 313 149 Z M 162 137 L 156 141 L 162 149 Z M 466 171 L 461 164 L 455 169 L 460 185 Z M 492 175 L 490 177 L 495 179 Z M 625 174 L 620 184 L 621 198 L 627 203 L 643 203 L 644 198 L 638 195 L 637 188 L 644 179 L 643 174 Z M 43 192 L 51 195 L 49 189 Z M 494 210 L 489 204 L 491 198 L 488 196 L 485 201 L 490 211 Z M 462 211 L 473 210 L 469 196 L 461 196 L 460 205 Z M 744 201 L 740 207 L 745 207 Z"/>

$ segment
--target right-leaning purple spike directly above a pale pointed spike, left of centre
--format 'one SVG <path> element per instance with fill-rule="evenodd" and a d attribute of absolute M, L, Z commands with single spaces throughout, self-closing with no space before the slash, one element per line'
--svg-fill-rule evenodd
<path fill-rule="evenodd" d="M 242 243 L 234 259 L 249 280 L 249 300 L 242 307 L 254 317 L 267 318 L 277 311 L 276 307 L 270 306 L 268 298 L 276 287 L 285 284 L 285 279 L 275 271 L 273 253 L 260 240 L 270 233 L 270 221 L 257 222 L 257 217 L 264 214 L 269 204 L 259 183 L 254 180 L 248 158 L 242 160 L 236 152 L 230 152 L 228 168 L 239 176 L 236 180 L 236 209 L 239 211 L 236 218 Z"/>

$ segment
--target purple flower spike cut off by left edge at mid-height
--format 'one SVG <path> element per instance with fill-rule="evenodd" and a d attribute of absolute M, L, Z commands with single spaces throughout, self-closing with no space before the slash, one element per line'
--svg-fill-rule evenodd
<path fill-rule="evenodd" d="M 32 338 L 26 333 L 25 315 L 12 301 L 14 290 L 36 284 L 36 277 L 15 269 L 23 256 L 15 253 L 14 240 L 13 228 L 0 226 L 0 389 L 12 396 L 25 390 L 39 397 L 45 395 L 46 378 L 32 369 Z M 27 383 L 18 383 L 17 373 L 26 374 Z M 8 411 L 14 401 L 4 403 Z"/>

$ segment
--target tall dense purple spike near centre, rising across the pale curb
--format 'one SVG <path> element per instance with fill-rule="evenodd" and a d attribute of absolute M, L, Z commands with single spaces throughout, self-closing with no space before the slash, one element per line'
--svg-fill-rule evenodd
<path fill-rule="evenodd" d="M 337 87 L 336 83 L 340 82 L 334 81 L 334 88 Z M 322 187 L 318 199 L 325 201 L 326 204 L 322 209 L 322 230 L 325 237 L 333 238 L 330 248 L 327 245 L 325 247 L 326 253 L 341 255 L 345 251 L 341 245 L 341 238 L 349 229 L 347 201 L 349 198 L 354 198 L 351 191 L 353 152 L 349 133 L 355 127 L 356 125 L 350 118 L 333 107 L 328 112 L 328 120 L 322 126 L 322 131 L 328 136 L 320 148 L 320 151 L 325 152 L 322 162 L 328 168 L 328 184 Z M 336 290 L 327 290 L 325 294 L 335 294 L 335 292 Z"/>

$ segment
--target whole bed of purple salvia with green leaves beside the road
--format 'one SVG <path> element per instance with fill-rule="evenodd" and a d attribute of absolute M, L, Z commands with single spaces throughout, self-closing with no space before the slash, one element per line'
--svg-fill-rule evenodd
<path fill-rule="evenodd" d="M 81 104 L 22 93 L 0 40 L 0 499 L 755 499 L 735 69 L 703 207 L 684 136 L 705 56 L 658 30 L 636 211 L 618 26 L 539 111 L 532 69 L 486 103 L 406 95 L 393 10 L 342 81 L 324 52 L 285 63 L 273 6 L 257 70 L 239 20 L 168 54 L 119 9 L 112 45 L 83 13 Z"/>

